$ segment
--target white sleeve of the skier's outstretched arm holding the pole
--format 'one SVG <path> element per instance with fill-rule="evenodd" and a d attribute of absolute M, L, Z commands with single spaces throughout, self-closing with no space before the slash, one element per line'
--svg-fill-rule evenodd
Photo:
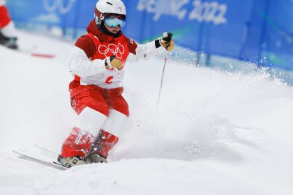
<path fill-rule="evenodd" d="M 130 53 L 126 61 L 136 62 L 142 59 L 148 60 L 153 54 L 160 55 L 167 52 L 167 49 L 165 49 L 165 47 L 161 45 L 160 47 L 156 47 L 156 43 L 155 43 L 156 41 L 158 40 L 153 40 L 151 42 L 148 42 L 147 44 L 137 44 L 137 48 L 135 49 L 136 54 Z"/>

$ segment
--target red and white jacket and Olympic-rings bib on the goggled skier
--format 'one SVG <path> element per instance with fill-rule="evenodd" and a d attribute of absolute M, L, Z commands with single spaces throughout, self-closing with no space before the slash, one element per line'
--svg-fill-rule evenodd
<path fill-rule="evenodd" d="M 82 85 L 94 84 L 107 89 L 121 87 L 126 62 L 147 60 L 152 54 L 167 51 L 158 40 L 140 45 L 121 31 L 117 38 L 108 36 L 98 29 L 94 20 L 87 27 L 87 32 L 77 39 L 68 59 L 74 80 Z M 112 55 L 122 62 L 121 70 L 105 68 L 106 58 Z"/>

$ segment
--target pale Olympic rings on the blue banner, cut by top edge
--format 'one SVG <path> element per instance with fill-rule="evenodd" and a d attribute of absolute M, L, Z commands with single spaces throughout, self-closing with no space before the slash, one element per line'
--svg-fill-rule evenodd
<path fill-rule="evenodd" d="M 66 14 L 73 8 L 75 1 L 76 0 L 68 0 L 67 5 L 65 6 L 63 0 L 43 0 L 43 5 L 47 12 L 59 10 L 61 14 Z"/>

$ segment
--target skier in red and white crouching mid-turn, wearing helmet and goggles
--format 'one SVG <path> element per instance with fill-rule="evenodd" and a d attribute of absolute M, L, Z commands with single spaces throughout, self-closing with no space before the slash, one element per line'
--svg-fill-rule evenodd
<path fill-rule="evenodd" d="M 69 85 L 77 124 L 63 142 L 63 166 L 106 162 L 129 116 L 121 82 L 126 61 L 147 60 L 174 49 L 172 37 L 145 45 L 123 35 L 126 8 L 121 0 L 99 0 L 87 34 L 78 38 L 68 59 L 74 79 Z"/>

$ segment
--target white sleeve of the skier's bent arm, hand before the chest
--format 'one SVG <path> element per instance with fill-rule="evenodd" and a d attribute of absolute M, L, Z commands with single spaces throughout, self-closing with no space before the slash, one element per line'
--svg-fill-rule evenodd
<path fill-rule="evenodd" d="M 80 47 L 73 47 L 69 59 L 69 70 L 79 77 L 88 77 L 97 75 L 107 70 L 105 68 L 105 60 L 96 59 L 89 60 L 87 54 Z"/>

